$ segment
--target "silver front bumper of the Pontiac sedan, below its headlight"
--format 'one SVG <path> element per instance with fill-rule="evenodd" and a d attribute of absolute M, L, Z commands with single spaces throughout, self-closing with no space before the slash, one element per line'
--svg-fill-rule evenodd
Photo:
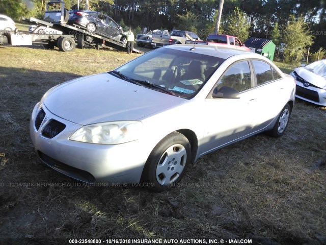
<path fill-rule="evenodd" d="M 41 108 L 45 116 L 37 129 L 35 120 Z M 65 128 L 58 135 L 47 138 L 43 131 L 51 120 L 61 122 Z M 60 173 L 86 183 L 140 181 L 148 152 L 142 150 L 138 140 L 116 145 L 69 140 L 80 127 L 82 125 L 58 117 L 44 105 L 37 104 L 31 116 L 30 135 L 40 159 Z"/>

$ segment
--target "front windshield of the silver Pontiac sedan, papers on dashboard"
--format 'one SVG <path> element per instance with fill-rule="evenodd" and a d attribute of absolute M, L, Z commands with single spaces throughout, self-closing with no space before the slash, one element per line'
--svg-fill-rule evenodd
<path fill-rule="evenodd" d="M 129 79 L 146 81 L 191 99 L 224 60 L 194 52 L 158 48 L 119 67 Z"/>

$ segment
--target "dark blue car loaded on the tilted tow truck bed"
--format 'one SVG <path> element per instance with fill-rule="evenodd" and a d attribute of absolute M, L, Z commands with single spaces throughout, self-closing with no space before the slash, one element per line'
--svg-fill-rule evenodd
<path fill-rule="evenodd" d="M 111 17 L 96 11 L 70 10 L 68 24 L 86 28 L 90 33 L 126 42 L 122 27 Z"/>

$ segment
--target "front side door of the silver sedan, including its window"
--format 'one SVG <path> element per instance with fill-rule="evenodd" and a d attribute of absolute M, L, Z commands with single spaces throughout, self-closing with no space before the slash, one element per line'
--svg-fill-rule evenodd
<path fill-rule="evenodd" d="M 254 132 L 255 90 L 248 61 L 232 64 L 216 83 L 220 89 L 231 87 L 239 92 L 239 99 L 214 99 L 208 96 L 204 103 L 204 140 L 201 155 L 221 148 Z"/>

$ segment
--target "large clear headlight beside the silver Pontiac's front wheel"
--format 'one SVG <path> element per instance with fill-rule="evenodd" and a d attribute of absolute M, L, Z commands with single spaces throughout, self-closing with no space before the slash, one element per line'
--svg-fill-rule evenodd
<path fill-rule="evenodd" d="M 141 121 L 111 121 L 86 125 L 69 139 L 94 144 L 122 144 L 137 140 L 143 124 Z"/>

